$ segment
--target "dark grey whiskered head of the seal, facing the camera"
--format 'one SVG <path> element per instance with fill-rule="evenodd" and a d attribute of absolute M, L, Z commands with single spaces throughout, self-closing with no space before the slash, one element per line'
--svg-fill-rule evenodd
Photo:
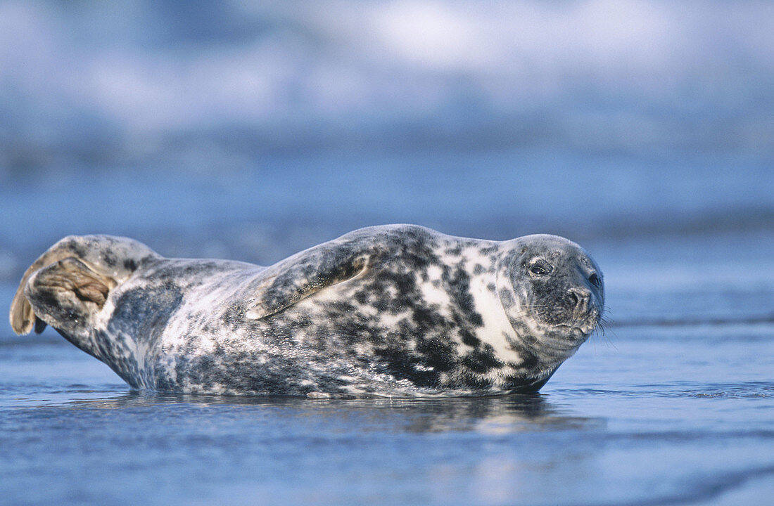
<path fill-rule="evenodd" d="M 561 363 L 597 328 L 604 308 L 602 272 L 577 244 L 559 236 L 514 239 L 498 288 L 516 335 Z M 558 365 L 558 364 L 557 364 Z"/>

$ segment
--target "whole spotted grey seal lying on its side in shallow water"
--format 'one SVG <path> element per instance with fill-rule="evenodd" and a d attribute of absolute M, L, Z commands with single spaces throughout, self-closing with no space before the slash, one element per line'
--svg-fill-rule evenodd
<path fill-rule="evenodd" d="M 598 327 L 601 270 L 559 236 L 358 229 L 269 267 L 69 236 L 11 304 L 134 389 L 306 396 L 535 392 Z"/>

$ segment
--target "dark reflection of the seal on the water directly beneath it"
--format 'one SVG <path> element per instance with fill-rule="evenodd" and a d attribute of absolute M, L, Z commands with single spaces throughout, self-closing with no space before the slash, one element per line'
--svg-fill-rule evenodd
<path fill-rule="evenodd" d="M 47 406 L 51 407 L 50 404 Z M 433 433 L 475 431 L 512 433 L 599 427 L 601 419 L 572 416 L 541 394 L 442 399 L 305 399 L 284 396 L 213 396 L 128 392 L 60 405 L 66 409 L 185 409 L 190 416 L 217 416 L 242 410 L 276 423 L 314 419 L 316 423 L 353 423 L 362 432 Z M 27 406 L 29 407 L 29 406 Z M 40 406 L 44 407 L 44 406 Z M 158 413 L 157 413 L 158 414 Z"/>

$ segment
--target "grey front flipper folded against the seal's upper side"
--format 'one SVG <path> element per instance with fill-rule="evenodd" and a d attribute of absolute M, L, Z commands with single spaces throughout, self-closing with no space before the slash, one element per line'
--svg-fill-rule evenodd
<path fill-rule="evenodd" d="M 358 277 L 385 252 L 378 234 L 362 229 L 290 256 L 263 271 L 245 317 L 266 318 L 334 284 Z"/>

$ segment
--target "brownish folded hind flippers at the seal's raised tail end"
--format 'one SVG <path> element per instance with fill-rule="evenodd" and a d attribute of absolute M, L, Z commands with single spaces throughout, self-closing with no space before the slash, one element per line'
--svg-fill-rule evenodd
<path fill-rule="evenodd" d="M 28 270 L 11 304 L 11 326 L 17 334 L 28 334 L 33 327 L 39 334 L 46 322 L 37 312 L 57 330 L 69 330 L 89 321 L 115 286 L 114 279 L 94 272 L 73 256 Z"/>

